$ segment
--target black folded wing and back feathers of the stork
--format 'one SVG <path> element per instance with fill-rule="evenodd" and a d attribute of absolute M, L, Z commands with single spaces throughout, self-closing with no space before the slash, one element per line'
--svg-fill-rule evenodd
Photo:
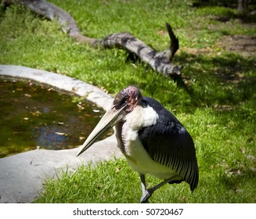
<path fill-rule="evenodd" d="M 153 160 L 176 171 L 193 191 L 197 188 L 199 174 L 196 149 L 189 132 L 160 102 L 143 97 L 142 106 L 153 107 L 159 115 L 157 124 L 139 131 L 146 151 Z"/>

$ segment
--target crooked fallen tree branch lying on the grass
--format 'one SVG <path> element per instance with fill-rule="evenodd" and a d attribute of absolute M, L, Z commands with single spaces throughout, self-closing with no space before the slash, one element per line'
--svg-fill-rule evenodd
<path fill-rule="evenodd" d="M 5 0 L 4 2 L 10 1 Z M 76 21 L 69 13 L 45 0 L 16 0 L 15 2 L 27 6 L 34 13 L 45 16 L 49 20 L 57 19 L 62 26 L 63 32 L 78 42 L 85 42 L 92 46 L 101 46 L 102 48 L 121 46 L 128 52 L 135 53 L 143 62 L 148 63 L 153 70 L 164 74 L 166 77 L 178 77 L 182 74 L 182 66 L 171 64 L 171 59 L 178 50 L 178 38 L 176 38 L 169 23 L 166 23 L 166 27 L 171 45 L 164 52 L 157 52 L 128 32 L 110 34 L 103 39 L 88 38 L 81 34 Z"/>

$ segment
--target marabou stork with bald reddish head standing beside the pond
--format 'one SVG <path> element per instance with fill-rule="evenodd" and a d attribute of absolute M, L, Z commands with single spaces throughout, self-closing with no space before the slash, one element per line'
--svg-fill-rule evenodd
<path fill-rule="evenodd" d="M 104 131 L 114 127 L 117 145 L 129 165 L 140 175 L 141 203 L 148 203 L 153 192 L 167 183 L 186 181 L 197 188 L 198 167 L 193 139 L 178 119 L 134 86 L 124 88 L 114 99 L 99 124 L 78 152 L 85 152 Z M 146 188 L 145 174 L 164 179 Z"/>

